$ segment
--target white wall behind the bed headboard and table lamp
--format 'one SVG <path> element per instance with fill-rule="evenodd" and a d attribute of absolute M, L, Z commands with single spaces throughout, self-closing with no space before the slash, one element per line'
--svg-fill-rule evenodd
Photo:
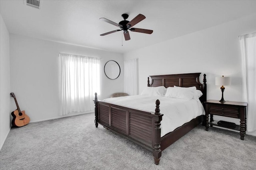
<path fill-rule="evenodd" d="M 202 82 L 202 75 L 206 74 L 208 99 L 220 100 L 220 86 L 215 86 L 215 77 L 224 75 L 232 77 L 224 99 L 243 102 L 238 36 L 255 31 L 256 14 L 125 53 L 124 60 L 138 58 L 140 93 L 150 75 L 202 72 L 200 80 Z M 239 119 L 232 121 L 240 124 Z M 256 135 L 256 132 L 250 134 Z"/>

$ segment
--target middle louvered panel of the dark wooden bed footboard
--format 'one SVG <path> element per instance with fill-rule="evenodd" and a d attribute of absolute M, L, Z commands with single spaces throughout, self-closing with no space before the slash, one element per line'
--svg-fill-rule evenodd
<path fill-rule="evenodd" d="M 126 111 L 111 107 L 111 126 L 126 133 Z"/>

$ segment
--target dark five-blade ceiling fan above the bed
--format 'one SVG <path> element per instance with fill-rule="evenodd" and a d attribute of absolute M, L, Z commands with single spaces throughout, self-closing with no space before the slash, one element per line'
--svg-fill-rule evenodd
<path fill-rule="evenodd" d="M 133 32 L 152 34 L 153 30 L 150 30 L 150 29 L 132 28 L 134 25 L 136 25 L 137 23 L 139 23 L 140 21 L 142 21 L 146 18 L 144 15 L 138 14 L 138 16 L 136 16 L 131 21 L 126 20 L 128 18 L 128 16 L 129 16 L 128 14 L 122 14 L 122 17 L 124 18 L 124 20 L 120 21 L 119 23 L 115 23 L 106 18 L 100 18 L 100 20 L 105 21 L 107 23 L 110 23 L 110 24 L 115 25 L 120 28 L 120 29 L 117 29 L 114 31 L 104 33 L 104 34 L 100 34 L 100 36 L 108 35 L 110 33 L 115 33 L 115 32 L 123 30 L 124 31 L 124 39 L 125 39 L 125 41 L 127 41 L 127 40 L 131 39 L 128 30 L 133 31 Z"/>

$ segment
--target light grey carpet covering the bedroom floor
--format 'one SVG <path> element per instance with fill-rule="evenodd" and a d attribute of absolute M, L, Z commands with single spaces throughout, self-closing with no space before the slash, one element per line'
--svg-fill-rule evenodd
<path fill-rule="evenodd" d="M 162 152 L 152 153 L 94 125 L 94 113 L 12 128 L 1 170 L 234 170 L 256 169 L 256 137 L 202 125 Z"/>

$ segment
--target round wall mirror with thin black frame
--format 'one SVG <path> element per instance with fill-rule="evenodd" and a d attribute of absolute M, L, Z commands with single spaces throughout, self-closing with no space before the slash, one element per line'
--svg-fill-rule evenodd
<path fill-rule="evenodd" d="M 114 80 L 120 75 L 120 66 L 116 61 L 110 60 L 105 64 L 104 72 L 109 79 Z"/>

